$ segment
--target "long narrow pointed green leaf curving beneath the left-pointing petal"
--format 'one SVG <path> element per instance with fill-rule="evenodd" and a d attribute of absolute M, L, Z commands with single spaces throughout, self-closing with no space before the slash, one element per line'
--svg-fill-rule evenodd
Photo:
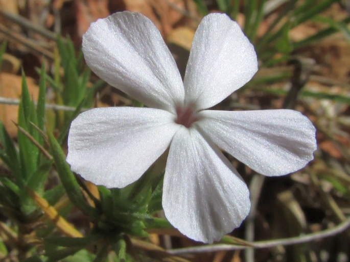
<path fill-rule="evenodd" d="M 80 190 L 79 184 L 68 163 L 65 161 L 66 156 L 63 153 L 61 146 L 58 144 L 57 140 L 51 133 L 48 133 L 48 138 L 58 175 L 69 199 L 71 199 L 71 201 L 90 218 L 97 219 L 99 217 L 99 212 L 96 208 L 86 203 L 85 198 Z"/>

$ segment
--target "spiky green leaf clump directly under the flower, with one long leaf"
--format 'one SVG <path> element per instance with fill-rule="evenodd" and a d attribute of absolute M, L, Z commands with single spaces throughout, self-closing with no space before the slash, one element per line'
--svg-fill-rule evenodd
<path fill-rule="evenodd" d="M 48 239 L 47 243 L 64 247 L 64 249 L 55 249 L 47 253 L 50 259 L 54 261 L 54 259 L 75 254 L 83 246 L 92 245 L 101 238 L 107 239 L 110 245 L 115 245 L 114 247 L 119 250 L 118 255 L 124 257 L 125 251 L 122 249 L 125 248 L 125 245 L 120 239 L 123 234 L 147 237 L 148 233 L 145 229 L 149 227 L 156 228 L 166 224 L 168 228 L 172 228 L 169 222 L 151 216 L 151 212 L 161 208 L 161 182 L 153 191 L 153 180 L 150 179 L 152 174 L 146 172 L 141 179 L 123 189 L 109 190 L 99 186 L 100 198 L 97 199 L 72 173 L 65 162 L 65 154 L 61 146 L 52 134 L 48 134 L 48 141 L 65 192 L 72 203 L 94 223 L 91 229 L 94 234 L 87 238 L 70 239 L 69 241 L 67 238 Z M 87 204 L 83 192 L 94 201 L 95 207 Z M 151 210 L 149 206 L 152 206 Z M 100 256 L 103 254 L 100 253 L 96 259 Z"/>

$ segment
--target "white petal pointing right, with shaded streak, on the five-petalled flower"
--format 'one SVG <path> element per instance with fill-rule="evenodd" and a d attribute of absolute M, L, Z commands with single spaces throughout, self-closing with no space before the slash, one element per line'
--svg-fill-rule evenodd
<path fill-rule="evenodd" d="M 294 110 L 199 113 L 201 133 L 255 171 L 285 175 L 313 160 L 315 127 Z"/>

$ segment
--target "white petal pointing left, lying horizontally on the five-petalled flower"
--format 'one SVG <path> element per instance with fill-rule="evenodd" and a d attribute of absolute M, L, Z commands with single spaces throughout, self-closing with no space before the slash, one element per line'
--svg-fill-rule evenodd
<path fill-rule="evenodd" d="M 169 147 L 174 115 L 149 108 L 98 108 L 80 114 L 68 135 L 67 162 L 94 184 L 122 188 Z"/>

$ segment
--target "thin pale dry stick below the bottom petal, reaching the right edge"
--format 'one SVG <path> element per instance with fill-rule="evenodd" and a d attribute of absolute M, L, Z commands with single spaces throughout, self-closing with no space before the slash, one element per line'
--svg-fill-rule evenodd
<path fill-rule="evenodd" d="M 217 245 L 190 247 L 190 248 L 170 249 L 170 250 L 167 250 L 167 252 L 174 255 L 178 255 L 178 254 L 187 254 L 187 253 L 242 250 L 247 248 L 269 248 L 269 247 L 275 247 L 275 246 L 281 246 L 281 245 L 288 246 L 288 245 L 301 244 L 301 243 L 311 242 L 311 241 L 315 241 L 323 238 L 332 237 L 333 235 L 343 232 L 348 227 L 350 227 L 350 218 L 347 218 L 343 223 L 340 223 L 334 228 L 325 229 L 323 231 L 316 232 L 316 233 L 300 235 L 299 237 L 292 237 L 292 238 L 278 239 L 278 240 L 268 240 L 268 241 L 256 241 L 256 242 L 249 243 L 252 247 L 217 244 Z"/>

